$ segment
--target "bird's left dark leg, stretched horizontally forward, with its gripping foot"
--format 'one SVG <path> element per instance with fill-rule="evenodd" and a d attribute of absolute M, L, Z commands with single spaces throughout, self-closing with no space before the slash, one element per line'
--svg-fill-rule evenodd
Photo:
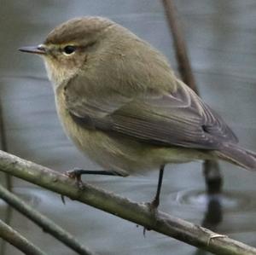
<path fill-rule="evenodd" d="M 68 177 L 71 177 L 76 180 L 77 185 L 79 188 L 83 189 L 84 188 L 84 183 L 81 180 L 81 176 L 84 174 L 87 175 L 102 175 L 102 176 L 117 176 L 117 177 L 122 177 L 121 174 L 119 174 L 116 171 L 90 171 L 90 170 L 84 170 L 84 169 L 79 169 L 75 168 L 70 171 L 66 171 L 65 173 Z"/>

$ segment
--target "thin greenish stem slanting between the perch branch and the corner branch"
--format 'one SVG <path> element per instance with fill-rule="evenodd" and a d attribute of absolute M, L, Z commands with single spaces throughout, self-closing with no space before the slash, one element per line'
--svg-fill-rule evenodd
<path fill-rule="evenodd" d="M 38 224 L 44 232 L 53 235 L 56 239 L 61 241 L 66 246 L 69 246 L 73 251 L 83 255 L 95 254 L 90 252 L 88 248 L 79 244 L 79 241 L 67 233 L 66 230 L 62 229 L 48 217 L 45 217 L 40 212 L 37 212 L 31 206 L 27 205 L 24 201 L 20 200 L 15 194 L 10 193 L 6 188 L 0 185 L 0 198 L 5 200 L 10 206 L 14 207 L 18 212 L 24 214 L 34 223 Z"/>

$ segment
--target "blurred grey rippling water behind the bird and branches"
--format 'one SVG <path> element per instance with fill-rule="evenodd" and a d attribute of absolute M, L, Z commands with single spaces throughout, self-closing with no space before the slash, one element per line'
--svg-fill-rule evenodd
<path fill-rule="evenodd" d="M 204 101 L 223 116 L 243 147 L 256 151 L 256 2 L 176 0 L 196 84 Z M 42 43 L 61 22 L 81 15 L 106 16 L 160 49 L 177 70 L 165 10 L 160 0 L 23 0 L 0 2 L 0 99 L 2 144 L 9 153 L 57 171 L 99 170 L 67 140 L 55 112 L 43 61 L 21 54 L 20 46 Z M 256 174 L 220 163 L 224 192 L 213 211 L 214 230 L 256 246 Z M 139 177 L 84 177 L 97 187 L 138 202 L 151 200 L 158 172 Z M 5 185 L 1 174 L 0 183 Z M 207 254 L 134 223 L 66 200 L 13 178 L 15 194 L 100 254 Z M 193 223 L 209 212 L 201 163 L 168 165 L 160 210 Z M 213 198 L 214 200 L 214 198 Z M 213 203 L 214 204 L 214 203 Z M 214 205 L 213 205 L 214 206 Z M 222 215 L 216 215 L 220 214 Z M 48 254 L 75 254 L 0 200 L 0 217 Z M 213 220 L 214 222 L 214 220 Z M 1 245 L 1 244 L 0 244 Z M 4 250 L 4 251 L 3 251 Z M 1 255 L 17 255 L 5 246 Z"/>

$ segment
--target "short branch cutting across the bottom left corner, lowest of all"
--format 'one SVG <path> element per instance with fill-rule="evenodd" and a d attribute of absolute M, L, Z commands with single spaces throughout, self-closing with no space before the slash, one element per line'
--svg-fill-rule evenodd
<path fill-rule="evenodd" d="M 46 253 L 27 241 L 26 238 L 20 235 L 15 229 L 3 223 L 2 220 L 0 220 L 0 237 L 27 255 L 46 255 Z"/>

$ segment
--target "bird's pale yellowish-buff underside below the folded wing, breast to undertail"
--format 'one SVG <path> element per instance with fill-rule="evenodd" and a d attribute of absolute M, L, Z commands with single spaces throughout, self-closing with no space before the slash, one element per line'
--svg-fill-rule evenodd
<path fill-rule="evenodd" d="M 110 136 L 100 130 L 86 129 L 74 122 L 66 107 L 61 105 L 60 102 L 57 104 L 57 112 L 67 136 L 83 154 L 106 170 L 127 176 L 158 169 L 167 163 L 182 163 L 198 158 L 198 152 L 192 149 L 160 147 L 125 136 Z"/>

